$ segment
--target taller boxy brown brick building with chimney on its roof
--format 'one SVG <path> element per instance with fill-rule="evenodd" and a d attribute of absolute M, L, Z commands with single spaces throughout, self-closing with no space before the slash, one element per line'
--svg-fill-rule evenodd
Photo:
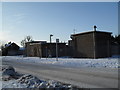
<path fill-rule="evenodd" d="M 111 32 L 89 31 L 71 35 L 72 56 L 104 58 L 111 56 Z"/>

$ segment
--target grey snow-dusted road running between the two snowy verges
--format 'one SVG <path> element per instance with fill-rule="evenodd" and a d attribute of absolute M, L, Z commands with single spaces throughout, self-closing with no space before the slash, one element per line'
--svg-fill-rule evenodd
<path fill-rule="evenodd" d="M 18 72 L 53 79 L 81 88 L 118 88 L 117 68 L 71 68 L 15 60 L 3 60 L 2 63 L 12 65 Z"/>

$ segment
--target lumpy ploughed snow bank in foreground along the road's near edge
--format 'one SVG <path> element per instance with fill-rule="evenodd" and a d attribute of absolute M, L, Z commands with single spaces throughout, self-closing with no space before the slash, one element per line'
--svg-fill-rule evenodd
<path fill-rule="evenodd" d="M 1 88 L 54 88 L 54 89 L 72 89 L 72 85 L 62 84 L 54 80 L 40 80 L 32 75 L 18 74 L 11 66 L 2 66 Z"/>

